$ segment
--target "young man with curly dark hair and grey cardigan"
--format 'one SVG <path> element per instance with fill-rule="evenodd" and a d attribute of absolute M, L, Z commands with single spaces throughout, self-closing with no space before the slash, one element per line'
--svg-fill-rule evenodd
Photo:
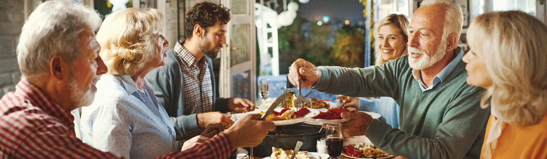
<path fill-rule="evenodd" d="M 211 58 L 226 44 L 230 10 L 222 4 L 197 3 L 185 16 L 186 39 L 167 52 L 166 65 L 147 75 L 158 102 L 171 117 L 177 140 L 197 136 L 208 124 L 234 123 L 224 113 L 241 113 L 254 104 L 241 98 L 215 97 Z"/>

